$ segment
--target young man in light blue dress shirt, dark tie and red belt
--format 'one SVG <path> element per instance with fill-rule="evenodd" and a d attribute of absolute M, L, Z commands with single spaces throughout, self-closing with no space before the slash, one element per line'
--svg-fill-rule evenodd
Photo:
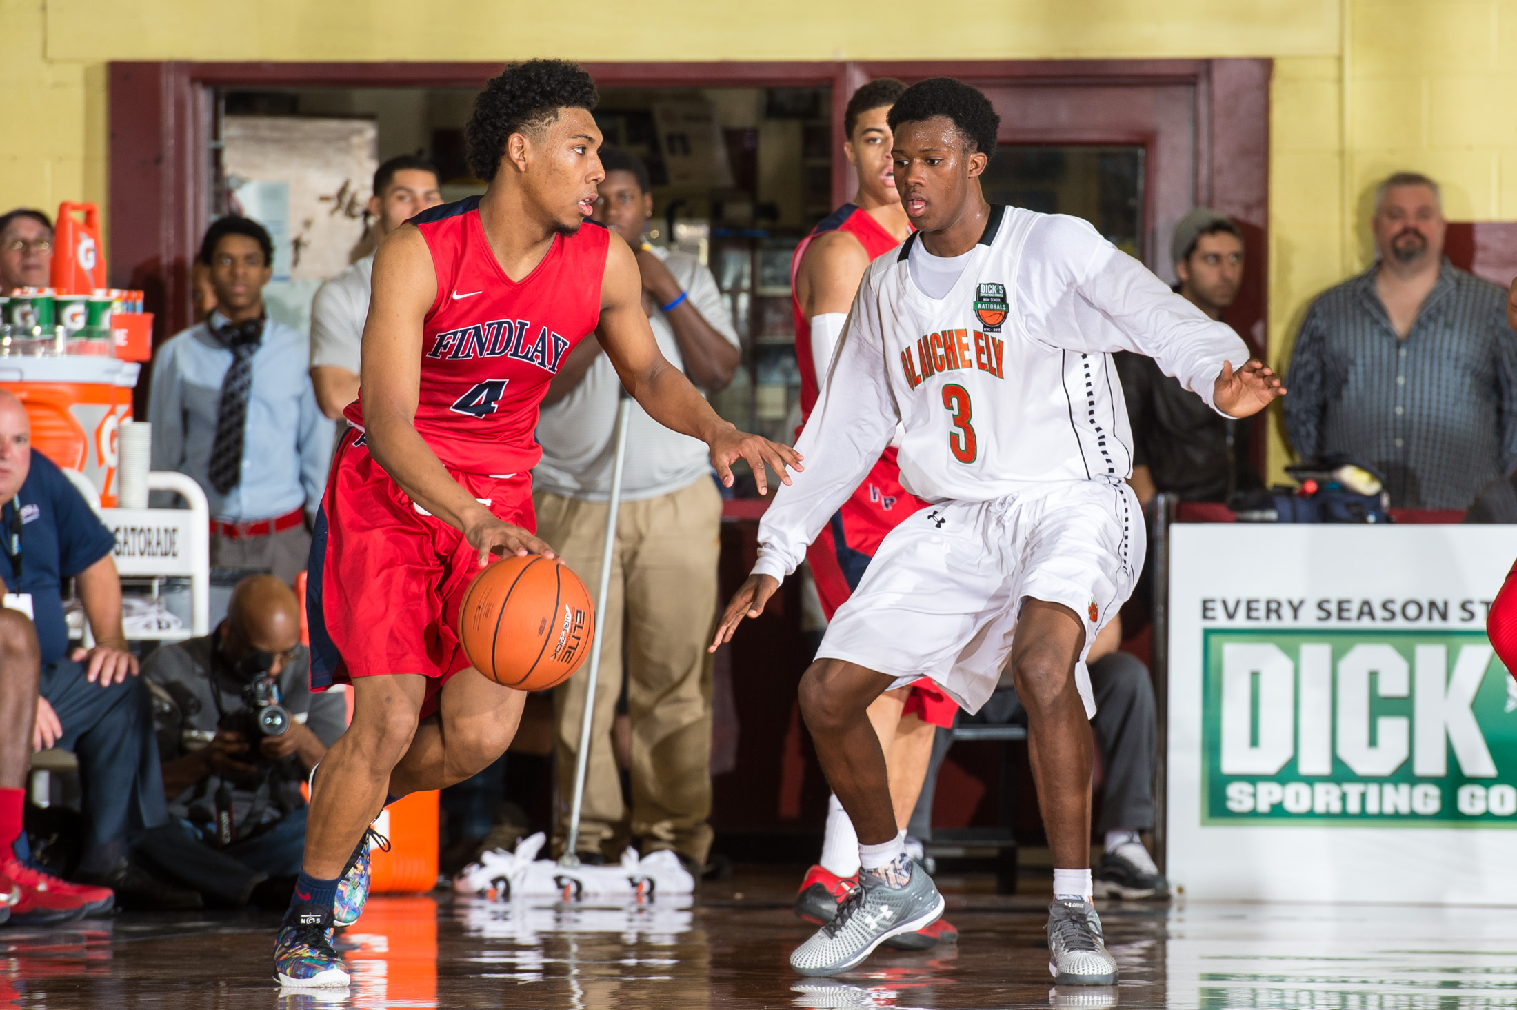
<path fill-rule="evenodd" d="M 188 474 L 211 503 L 211 563 L 291 582 L 311 550 L 332 422 L 306 374 L 305 334 L 264 313 L 269 232 L 221 217 L 205 232 L 215 311 L 158 348 L 147 418 L 153 469 Z"/>

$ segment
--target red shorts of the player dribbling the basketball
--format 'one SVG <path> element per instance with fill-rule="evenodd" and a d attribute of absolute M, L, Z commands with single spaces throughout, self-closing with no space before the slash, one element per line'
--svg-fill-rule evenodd
<path fill-rule="evenodd" d="M 531 474 L 448 472 L 502 521 L 536 530 Z M 464 535 L 413 503 L 360 431 L 344 433 L 306 567 L 311 688 L 419 673 L 428 679 L 422 717 L 435 712 L 443 683 L 472 665 L 458 606 L 478 573 Z"/>

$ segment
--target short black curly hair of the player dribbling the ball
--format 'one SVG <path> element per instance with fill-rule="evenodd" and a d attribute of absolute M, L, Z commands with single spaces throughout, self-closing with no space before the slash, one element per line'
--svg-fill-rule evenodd
<path fill-rule="evenodd" d="M 464 128 L 469 170 L 488 182 L 501 167 L 511 134 L 540 131 L 558 118 L 558 109 L 593 111 L 596 100 L 595 80 L 578 64 L 563 59 L 510 64 L 475 99 Z"/>

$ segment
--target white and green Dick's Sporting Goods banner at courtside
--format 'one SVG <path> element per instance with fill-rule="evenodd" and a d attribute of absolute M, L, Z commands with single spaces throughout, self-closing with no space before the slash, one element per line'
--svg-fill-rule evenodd
<path fill-rule="evenodd" d="M 1168 872 L 1197 899 L 1517 902 L 1505 526 L 1171 527 Z"/>

